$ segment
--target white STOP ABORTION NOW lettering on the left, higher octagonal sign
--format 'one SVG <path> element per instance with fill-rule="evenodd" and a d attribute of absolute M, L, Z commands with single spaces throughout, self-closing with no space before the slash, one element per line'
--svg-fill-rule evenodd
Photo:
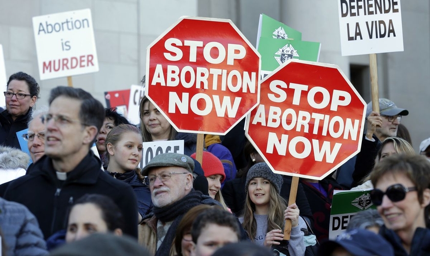
<path fill-rule="evenodd" d="M 187 51 L 183 51 L 183 48 L 179 47 L 186 47 Z M 204 44 L 203 41 L 182 41 L 178 38 L 168 38 L 164 42 L 164 48 L 166 51 L 163 55 L 167 60 L 172 62 L 181 61 L 182 63 L 184 61 L 192 63 L 197 62 L 198 59 L 204 59 L 212 65 L 225 62 L 226 65 L 234 67 L 237 61 L 244 59 L 246 56 L 246 48 L 243 45 L 228 44 L 227 47 L 224 47 L 224 45 L 216 41 Z M 218 54 L 213 54 L 213 52 L 218 52 Z M 202 56 L 198 56 L 199 53 Z M 181 86 L 185 89 L 194 87 L 212 91 L 211 96 L 205 93 L 197 93 L 192 97 L 190 97 L 189 93 L 169 92 L 168 113 L 179 111 L 181 114 L 188 114 L 188 109 L 190 109 L 196 115 L 206 116 L 215 109 L 218 117 L 229 118 L 236 116 L 242 97 L 225 96 L 222 92 L 256 94 L 257 83 L 256 72 L 192 66 L 163 66 L 162 64 L 156 65 L 154 75 L 150 81 L 151 86 Z M 219 92 L 219 95 L 217 95 L 217 92 Z M 200 101 L 205 102 L 203 107 L 198 104 Z"/>

